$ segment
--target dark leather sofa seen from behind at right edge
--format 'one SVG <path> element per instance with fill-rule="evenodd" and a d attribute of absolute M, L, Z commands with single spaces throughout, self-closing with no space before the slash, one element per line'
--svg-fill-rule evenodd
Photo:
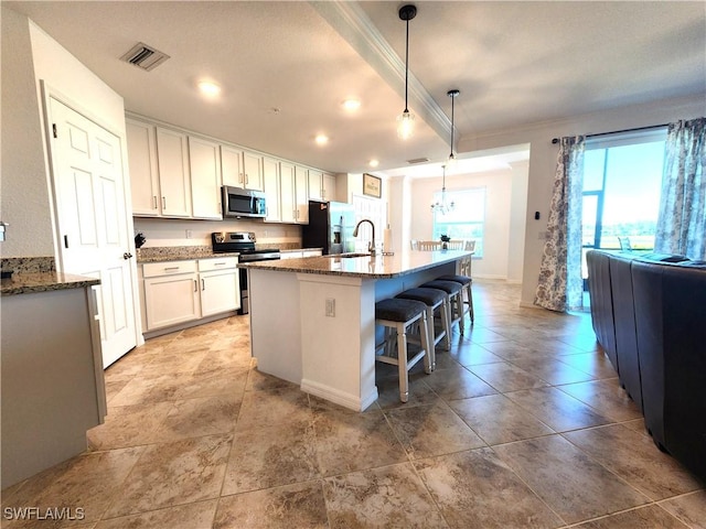
<path fill-rule="evenodd" d="M 591 250 L 587 263 L 593 330 L 621 384 L 655 444 L 706 478 L 706 262 Z"/>

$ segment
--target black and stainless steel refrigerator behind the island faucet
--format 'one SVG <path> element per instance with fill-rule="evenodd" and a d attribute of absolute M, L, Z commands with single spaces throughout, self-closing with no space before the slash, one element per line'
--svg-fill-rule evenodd
<path fill-rule="evenodd" d="M 309 201 L 309 224 L 301 227 L 301 246 L 322 248 L 324 256 L 354 251 L 354 227 L 352 204 Z"/>

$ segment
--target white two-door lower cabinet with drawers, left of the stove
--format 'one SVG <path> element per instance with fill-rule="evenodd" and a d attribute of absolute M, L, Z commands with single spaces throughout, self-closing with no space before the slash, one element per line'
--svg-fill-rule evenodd
<path fill-rule="evenodd" d="M 145 331 L 239 309 L 236 264 L 236 257 L 142 264 Z"/>

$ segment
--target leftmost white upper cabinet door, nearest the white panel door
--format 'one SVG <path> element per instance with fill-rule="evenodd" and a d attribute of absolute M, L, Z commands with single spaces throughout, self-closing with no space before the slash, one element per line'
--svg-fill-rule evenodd
<path fill-rule="evenodd" d="M 126 119 L 132 214 L 156 217 L 160 214 L 159 172 L 157 169 L 156 127 Z"/>

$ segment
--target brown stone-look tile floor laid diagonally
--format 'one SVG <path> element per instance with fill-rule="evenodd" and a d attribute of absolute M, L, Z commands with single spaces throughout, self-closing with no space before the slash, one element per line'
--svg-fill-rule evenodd
<path fill-rule="evenodd" d="M 644 431 L 587 314 L 474 284 L 475 325 L 355 413 L 264 376 L 247 316 L 106 371 L 89 450 L 2 493 L 2 528 L 706 528 L 706 490 Z M 81 507 L 82 520 L 7 508 Z M 75 512 L 75 510 L 74 510 Z"/>

